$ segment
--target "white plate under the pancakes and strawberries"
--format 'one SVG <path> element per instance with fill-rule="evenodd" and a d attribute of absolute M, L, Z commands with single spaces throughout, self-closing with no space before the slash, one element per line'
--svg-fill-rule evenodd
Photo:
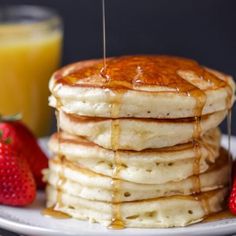
<path fill-rule="evenodd" d="M 40 142 L 46 147 L 46 139 Z M 223 137 L 227 146 L 227 138 Z M 236 137 L 232 137 L 232 153 L 236 155 Z M 236 232 L 236 218 L 198 223 L 183 228 L 109 230 L 98 224 L 74 219 L 59 220 L 42 216 L 44 193 L 38 193 L 35 203 L 27 208 L 0 206 L 0 228 L 33 236 L 107 236 L 107 235 L 225 235 Z"/>

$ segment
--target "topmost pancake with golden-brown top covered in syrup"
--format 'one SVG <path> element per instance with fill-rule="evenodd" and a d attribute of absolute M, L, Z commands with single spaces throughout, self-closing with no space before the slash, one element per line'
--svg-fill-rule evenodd
<path fill-rule="evenodd" d="M 229 109 L 232 77 L 171 56 L 78 62 L 51 78 L 50 105 L 98 117 L 185 118 Z"/>

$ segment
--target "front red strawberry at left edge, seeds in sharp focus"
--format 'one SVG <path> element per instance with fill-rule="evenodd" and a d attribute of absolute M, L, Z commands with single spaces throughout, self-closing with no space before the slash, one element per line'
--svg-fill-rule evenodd
<path fill-rule="evenodd" d="M 35 181 L 26 159 L 0 141 L 0 204 L 28 205 L 35 194 Z"/>

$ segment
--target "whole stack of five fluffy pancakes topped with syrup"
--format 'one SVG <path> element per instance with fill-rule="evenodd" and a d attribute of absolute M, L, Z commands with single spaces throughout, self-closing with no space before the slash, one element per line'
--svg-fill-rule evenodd
<path fill-rule="evenodd" d="M 113 228 L 185 226 L 224 208 L 231 170 L 217 126 L 230 76 L 169 56 L 90 60 L 57 71 L 47 206 Z"/>

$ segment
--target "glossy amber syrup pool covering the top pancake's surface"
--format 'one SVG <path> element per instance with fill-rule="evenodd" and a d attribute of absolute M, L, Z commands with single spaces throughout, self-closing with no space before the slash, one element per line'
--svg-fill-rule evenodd
<path fill-rule="evenodd" d="M 91 66 L 72 71 L 69 75 L 58 75 L 56 83 L 81 87 L 101 87 L 139 90 L 139 86 L 162 86 L 173 88 L 179 93 L 198 99 L 199 107 L 204 101 L 204 92 L 178 75 L 178 70 L 193 71 L 199 78 L 210 81 L 213 89 L 226 87 L 225 81 L 204 70 L 197 62 L 169 56 L 122 56 L 106 58 L 106 75 L 109 83 L 102 83 L 97 75 L 104 67 L 104 60 L 97 60 Z M 88 79 L 89 78 L 89 79 Z M 196 112 L 199 114 L 199 112 Z"/>

